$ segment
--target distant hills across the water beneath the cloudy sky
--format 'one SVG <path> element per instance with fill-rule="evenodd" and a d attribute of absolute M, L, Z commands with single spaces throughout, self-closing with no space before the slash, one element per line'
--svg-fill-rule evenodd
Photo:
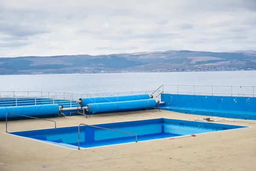
<path fill-rule="evenodd" d="M 61 55 L 0 58 L 0 74 L 97 73 L 140 70 L 256 70 L 256 51 L 204 52 L 170 50 L 111 55 Z"/>

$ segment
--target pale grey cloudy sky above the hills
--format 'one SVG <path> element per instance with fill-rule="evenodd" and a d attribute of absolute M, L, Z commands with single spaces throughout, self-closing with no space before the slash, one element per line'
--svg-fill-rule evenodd
<path fill-rule="evenodd" d="M 0 0 L 0 56 L 256 50 L 256 0 Z"/>

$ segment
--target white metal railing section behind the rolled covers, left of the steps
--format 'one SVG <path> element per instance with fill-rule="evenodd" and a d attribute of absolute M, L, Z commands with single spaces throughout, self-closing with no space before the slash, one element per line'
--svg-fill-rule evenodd
<path fill-rule="evenodd" d="M 113 93 L 54 93 L 54 92 L 0 92 L 0 107 L 3 106 L 22 106 L 37 104 L 59 104 L 64 108 L 76 107 L 77 100 L 81 97 L 99 97 L 99 96 L 118 96 L 128 94 L 159 94 L 156 90 L 130 91 L 130 92 L 113 92 Z M 38 94 L 39 93 L 39 94 Z M 155 98 L 155 97 L 154 97 Z"/>

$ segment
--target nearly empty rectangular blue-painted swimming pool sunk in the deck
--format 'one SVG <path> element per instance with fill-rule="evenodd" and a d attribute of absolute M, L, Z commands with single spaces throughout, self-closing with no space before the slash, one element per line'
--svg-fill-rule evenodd
<path fill-rule="evenodd" d="M 239 125 L 226 125 L 166 118 L 105 123 L 93 126 L 135 133 L 137 135 L 138 142 L 196 133 L 245 128 L 245 126 Z M 135 142 L 135 134 L 117 132 L 102 128 L 81 125 L 79 127 L 80 147 L 90 148 L 103 145 Z M 78 126 L 9 133 L 17 136 L 38 139 L 44 142 L 50 142 L 69 148 L 78 148 Z"/>

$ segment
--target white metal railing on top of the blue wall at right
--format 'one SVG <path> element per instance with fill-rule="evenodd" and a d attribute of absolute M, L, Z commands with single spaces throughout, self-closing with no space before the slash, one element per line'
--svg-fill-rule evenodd
<path fill-rule="evenodd" d="M 190 95 L 215 95 L 215 96 L 246 96 L 254 97 L 256 86 L 241 85 L 182 85 L 163 84 L 157 90 L 161 93 L 190 94 Z"/>

